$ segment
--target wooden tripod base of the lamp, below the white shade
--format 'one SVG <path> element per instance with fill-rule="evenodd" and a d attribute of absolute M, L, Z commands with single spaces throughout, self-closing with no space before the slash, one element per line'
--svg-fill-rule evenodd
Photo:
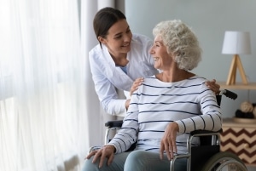
<path fill-rule="evenodd" d="M 236 68 L 238 68 L 238 70 L 240 72 L 242 83 L 248 84 L 247 77 L 246 77 L 243 67 L 241 65 L 241 60 L 240 60 L 240 57 L 238 54 L 234 54 L 234 56 L 233 56 L 232 63 L 230 66 L 230 73 L 229 73 L 229 77 L 227 79 L 226 84 L 227 85 L 236 84 Z"/>

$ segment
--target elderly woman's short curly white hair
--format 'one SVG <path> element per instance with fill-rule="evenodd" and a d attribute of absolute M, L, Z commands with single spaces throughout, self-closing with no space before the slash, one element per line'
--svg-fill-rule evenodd
<path fill-rule="evenodd" d="M 154 26 L 153 35 L 162 38 L 167 53 L 174 55 L 178 68 L 190 71 L 201 61 L 197 37 L 181 20 L 161 21 Z"/>

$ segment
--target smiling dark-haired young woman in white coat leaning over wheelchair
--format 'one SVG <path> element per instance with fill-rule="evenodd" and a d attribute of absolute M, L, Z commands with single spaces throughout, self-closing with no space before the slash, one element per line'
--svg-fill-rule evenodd
<path fill-rule="evenodd" d="M 153 42 L 132 34 L 125 14 L 118 9 L 99 10 L 93 26 L 99 44 L 90 50 L 89 60 L 96 94 L 108 114 L 124 116 L 130 94 L 143 83 L 143 77 L 159 72 L 149 54 Z M 207 84 L 212 91 L 219 92 L 215 80 Z M 125 92 L 126 99 L 119 99 L 117 89 Z"/>

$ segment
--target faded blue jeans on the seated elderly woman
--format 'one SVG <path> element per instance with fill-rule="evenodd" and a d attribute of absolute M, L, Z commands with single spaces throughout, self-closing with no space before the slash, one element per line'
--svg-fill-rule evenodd
<path fill-rule="evenodd" d="M 99 168 L 99 161 L 92 163 L 93 157 L 84 161 L 82 171 L 169 171 L 170 161 L 166 155 L 160 160 L 160 154 L 150 151 L 129 151 L 116 154 L 113 162 L 107 166 L 107 158 L 102 168 Z M 175 171 L 186 170 L 186 159 L 175 161 Z"/>

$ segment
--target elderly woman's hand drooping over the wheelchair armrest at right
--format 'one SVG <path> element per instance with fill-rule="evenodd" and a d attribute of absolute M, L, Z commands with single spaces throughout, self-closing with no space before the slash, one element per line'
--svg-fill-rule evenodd
<path fill-rule="evenodd" d="M 160 142 L 160 159 L 163 159 L 164 151 L 169 160 L 172 160 L 173 153 L 177 153 L 176 137 L 178 125 L 175 122 L 169 123 L 166 127 L 165 134 Z"/>

